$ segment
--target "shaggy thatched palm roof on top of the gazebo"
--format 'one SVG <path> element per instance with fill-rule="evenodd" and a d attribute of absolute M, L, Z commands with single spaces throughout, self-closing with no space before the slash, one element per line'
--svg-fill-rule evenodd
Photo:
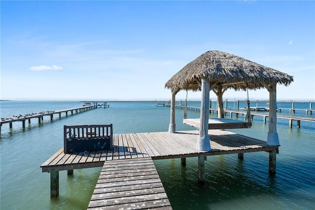
<path fill-rule="evenodd" d="M 293 76 L 281 71 L 229 53 L 208 51 L 172 76 L 165 83 L 165 88 L 174 92 L 198 91 L 201 90 L 202 77 L 207 78 L 210 85 L 217 83 L 217 86 L 234 90 L 259 89 L 269 83 L 287 86 L 293 82 Z"/>

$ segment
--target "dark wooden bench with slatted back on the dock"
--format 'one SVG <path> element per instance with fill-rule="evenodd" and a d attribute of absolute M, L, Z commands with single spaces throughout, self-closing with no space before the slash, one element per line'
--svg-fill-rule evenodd
<path fill-rule="evenodd" d="M 63 126 L 65 154 L 113 149 L 113 124 Z"/>

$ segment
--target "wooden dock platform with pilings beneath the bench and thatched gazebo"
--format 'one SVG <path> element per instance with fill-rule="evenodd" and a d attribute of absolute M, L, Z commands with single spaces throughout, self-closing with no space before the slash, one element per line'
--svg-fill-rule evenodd
<path fill-rule="evenodd" d="M 59 195 L 59 171 L 63 170 L 73 174 L 75 169 L 104 167 L 104 163 L 113 165 L 117 160 L 137 158 L 155 160 L 182 158 L 183 163 L 185 158 L 189 157 L 239 154 L 239 158 L 242 158 L 244 153 L 259 151 L 266 151 L 275 156 L 279 148 L 279 145 L 268 145 L 266 141 L 229 131 L 211 130 L 209 133 L 210 151 L 196 149 L 197 130 L 179 131 L 175 134 L 169 132 L 115 134 L 112 150 L 64 154 L 61 148 L 40 167 L 42 172 L 50 173 L 51 196 L 55 197 Z M 270 158 L 269 155 L 269 172 L 275 173 L 275 164 L 275 157 Z"/>

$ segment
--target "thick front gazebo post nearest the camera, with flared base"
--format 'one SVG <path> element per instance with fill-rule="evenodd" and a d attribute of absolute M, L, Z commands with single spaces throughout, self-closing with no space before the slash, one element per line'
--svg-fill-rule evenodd
<path fill-rule="evenodd" d="M 208 135 L 209 127 L 209 92 L 210 82 L 206 78 L 201 78 L 201 107 L 200 107 L 200 128 L 197 138 L 196 149 L 200 151 L 210 151 L 210 139 Z"/>

